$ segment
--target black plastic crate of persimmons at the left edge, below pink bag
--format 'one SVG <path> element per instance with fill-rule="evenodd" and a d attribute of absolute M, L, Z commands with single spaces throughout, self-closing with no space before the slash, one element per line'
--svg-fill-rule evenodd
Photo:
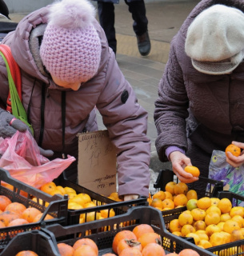
<path fill-rule="evenodd" d="M 0 168 L 0 182 L 6 182 L 14 186 L 13 190 L 0 185 L 0 194 L 5 195 L 10 198 L 12 202 L 20 202 L 26 208 L 35 207 L 40 210 L 43 215 L 39 222 L 33 222 L 25 224 L 22 226 L 10 226 L 0 229 L 0 252 L 6 245 L 10 242 L 16 234 L 30 231 L 30 230 L 40 230 L 41 223 L 46 218 L 47 214 L 53 216 L 53 219 L 45 221 L 47 224 L 60 223 L 66 225 L 67 223 L 67 198 L 63 198 L 59 195 L 54 195 L 53 197 L 49 194 L 43 193 L 41 190 L 35 189 L 32 186 L 26 185 L 23 182 L 12 178 L 7 170 Z M 22 195 L 22 192 L 26 193 L 26 197 Z M 34 202 L 32 198 L 37 198 L 37 202 Z M 41 201 L 42 200 L 42 201 Z M 46 205 L 46 202 L 49 204 Z"/>

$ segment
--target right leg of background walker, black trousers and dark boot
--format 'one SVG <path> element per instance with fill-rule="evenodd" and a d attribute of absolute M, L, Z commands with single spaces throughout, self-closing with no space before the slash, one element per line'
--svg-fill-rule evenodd
<path fill-rule="evenodd" d="M 130 0 L 131 1 L 131 0 Z M 134 20 L 133 29 L 138 39 L 138 50 L 142 56 L 150 53 L 150 38 L 147 30 L 146 6 L 144 0 L 128 2 L 129 11 Z"/>

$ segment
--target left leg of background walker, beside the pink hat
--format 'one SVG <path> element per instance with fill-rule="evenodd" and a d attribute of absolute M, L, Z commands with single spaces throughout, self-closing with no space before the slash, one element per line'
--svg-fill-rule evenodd
<path fill-rule="evenodd" d="M 106 34 L 110 48 L 116 54 L 117 40 L 114 28 L 114 3 L 113 2 L 99 2 L 98 1 L 98 17 L 99 22 Z"/>

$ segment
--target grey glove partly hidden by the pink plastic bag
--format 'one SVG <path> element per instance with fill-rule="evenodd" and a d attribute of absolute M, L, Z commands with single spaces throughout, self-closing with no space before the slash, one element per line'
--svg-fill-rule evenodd
<path fill-rule="evenodd" d="M 29 127 L 26 126 L 26 124 L 19 119 L 15 118 L 14 121 L 12 121 L 13 118 L 14 118 L 13 114 L 10 114 L 6 110 L 2 110 L 0 108 L 0 137 L 2 138 L 12 137 L 17 130 L 20 132 L 25 132 L 26 130 L 29 129 Z M 54 154 L 54 151 L 52 150 L 43 150 L 41 147 L 39 147 L 39 149 L 40 149 L 40 154 L 42 154 L 46 158 L 49 158 Z M 0 155 L 0 158 L 1 157 L 2 156 Z"/>

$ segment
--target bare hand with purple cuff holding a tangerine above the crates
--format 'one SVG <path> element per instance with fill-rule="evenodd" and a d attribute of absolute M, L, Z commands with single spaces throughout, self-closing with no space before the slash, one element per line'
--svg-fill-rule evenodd
<path fill-rule="evenodd" d="M 181 182 L 191 183 L 198 180 L 198 178 L 193 177 L 192 174 L 186 173 L 184 170 L 186 166 L 192 166 L 190 158 L 187 158 L 185 154 L 179 151 L 173 151 L 170 153 L 169 158 L 170 162 L 172 162 L 174 174 L 176 174 Z"/>

